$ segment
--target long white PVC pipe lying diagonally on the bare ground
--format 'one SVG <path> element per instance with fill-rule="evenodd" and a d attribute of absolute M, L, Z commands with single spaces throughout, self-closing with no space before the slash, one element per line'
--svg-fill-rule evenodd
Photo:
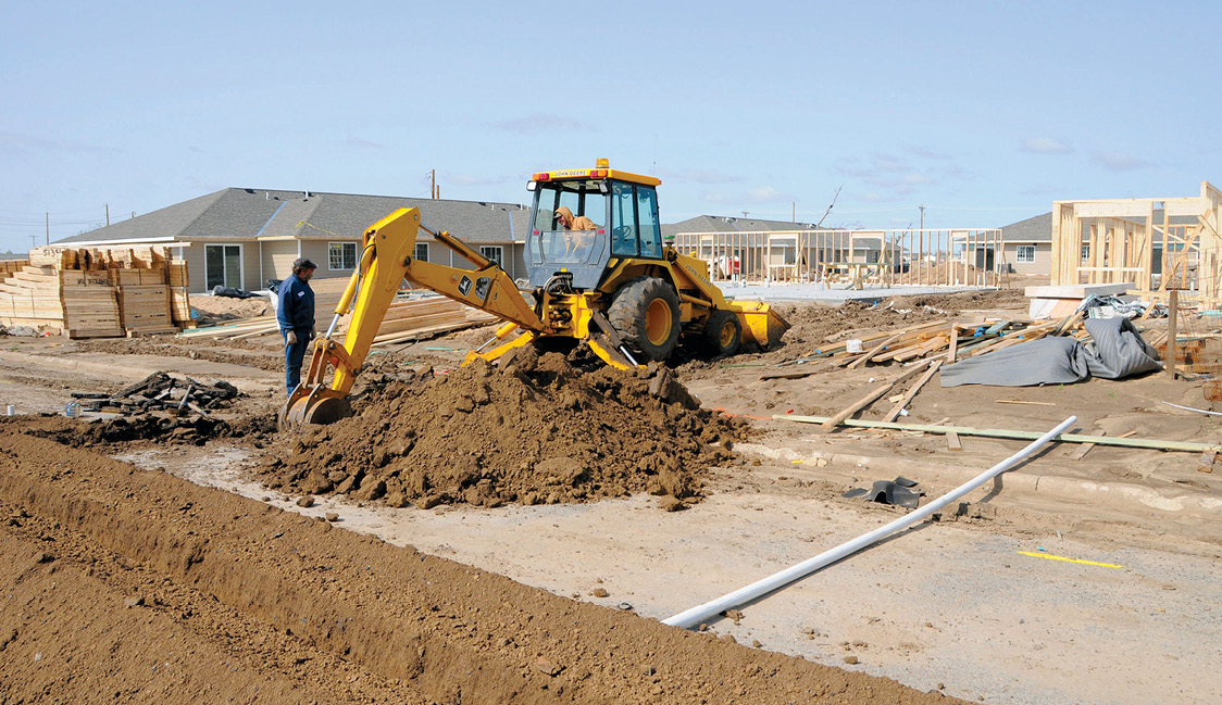
<path fill-rule="evenodd" d="M 893 534 L 896 531 L 899 531 L 902 529 L 907 529 L 907 528 L 909 528 L 909 527 L 912 527 L 912 525 L 914 525 L 914 524 L 924 521 L 926 517 L 929 517 L 934 512 L 936 512 L 936 511 L 941 510 L 942 507 L 949 505 L 951 502 L 958 500 L 963 495 L 967 495 L 968 492 L 970 492 L 971 490 L 979 488 L 980 485 L 985 484 L 986 481 L 991 480 L 992 478 L 995 478 L 995 477 L 1004 473 L 1009 468 L 1014 467 L 1015 464 L 1018 464 L 1019 461 L 1022 461 L 1022 459 L 1026 458 L 1028 456 L 1033 455 L 1036 450 L 1040 448 L 1040 446 L 1042 446 L 1044 444 L 1048 442 L 1050 440 L 1052 440 L 1053 437 L 1056 437 L 1057 435 L 1059 435 L 1062 431 L 1064 431 L 1066 429 L 1068 429 L 1069 426 L 1072 426 L 1077 420 L 1078 420 L 1078 417 L 1069 417 L 1068 419 L 1061 422 L 1057 425 L 1057 428 L 1055 428 L 1051 431 L 1044 434 L 1039 439 L 1031 441 L 1030 445 L 1028 445 L 1022 451 L 1014 453 L 1013 456 L 1011 456 L 1011 457 L 1006 458 L 1004 461 L 997 463 L 992 468 L 989 468 L 984 473 L 976 475 L 974 479 L 969 480 L 968 483 L 965 483 L 963 485 L 959 485 L 958 488 L 956 488 L 951 492 L 948 492 L 946 495 L 942 495 L 937 500 L 935 500 L 935 501 L 925 505 L 924 507 L 916 510 L 915 512 L 913 512 L 910 514 L 906 514 L 906 516 L 896 519 L 895 522 L 891 522 L 890 524 L 887 524 L 885 527 L 880 527 L 880 528 L 870 531 L 869 534 L 864 534 L 862 536 L 858 536 L 857 539 L 853 539 L 852 541 L 848 541 L 847 544 L 841 544 L 840 546 L 836 546 L 835 549 L 832 549 L 830 551 L 824 551 L 822 553 L 819 553 L 814 558 L 809 558 L 807 561 L 803 561 L 803 562 L 798 563 L 797 566 L 786 568 L 785 571 L 781 571 L 780 573 L 776 573 L 774 575 L 764 578 L 763 580 L 758 580 L 755 583 L 752 583 L 750 585 L 747 585 L 745 588 L 741 588 L 738 590 L 734 590 L 733 593 L 730 593 L 728 595 L 723 595 L 721 597 L 717 597 L 716 600 L 714 600 L 711 602 L 705 602 L 704 605 L 700 605 L 700 606 L 697 606 L 697 607 L 692 607 L 690 610 L 687 610 L 686 612 L 679 612 L 678 615 L 675 615 L 673 617 L 668 617 L 666 619 L 662 619 L 662 624 L 670 624 L 671 627 L 683 627 L 684 629 L 690 629 L 692 627 L 695 627 L 698 624 L 700 624 L 701 622 L 708 621 L 710 617 L 720 615 L 721 612 L 725 612 L 726 610 L 731 610 L 733 607 L 737 607 L 738 605 L 743 605 L 743 604 L 750 602 L 752 600 L 754 600 L 754 599 L 756 599 L 756 597 L 759 597 L 761 595 L 766 595 L 766 594 L 771 593 L 772 590 L 777 590 L 780 588 L 783 588 L 785 585 L 788 585 L 789 583 L 797 580 L 798 578 L 803 578 L 805 575 L 809 575 L 810 573 L 814 573 L 815 571 L 818 571 L 818 569 L 820 569 L 822 567 L 830 566 L 830 564 L 835 563 L 836 561 L 840 561 L 841 558 L 851 556 L 851 555 L 860 551 L 862 549 L 864 549 L 864 547 L 866 547 L 866 546 L 869 546 L 871 544 L 875 544 L 875 542 L 882 540 L 884 538 L 886 538 L 886 536 L 888 536 L 888 535 L 891 535 L 891 534 Z"/>

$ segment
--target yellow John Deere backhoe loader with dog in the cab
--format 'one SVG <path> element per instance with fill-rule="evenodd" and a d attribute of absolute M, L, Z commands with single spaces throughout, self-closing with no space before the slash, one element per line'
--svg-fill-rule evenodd
<path fill-rule="evenodd" d="M 610 169 L 604 159 L 594 169 L 535 174 L 527 184 L 534 199 L 525 237 L 533 303 L 499 263 L 425 227 L 418 209 L 401 208 L 375 222 L 364 232 L 360 261 L 326 335 L 314 342 L 309 371 L 281 412 L 282 425 L 326 424 L 351 413 L 348 392 L 403 280 L 506 321 L 463 364 L 527 345 L 567 351 L 585 342 L 618 369 L 665 360 L 681 340 L 714 356 L 733 354 L 744 342 L 776 345 L 789 327 L 778 313 L 766 303 L 726 299 L 704 260 L 664 246 L 660 183 Z M 572 220 L 558 217 L 565 209 Z M 587 230 L 567 230 L 566 222 Z M 420 230 L 474 269 L 414 259 Z M 347 335 L 334 338 L 349 310 Z"/>

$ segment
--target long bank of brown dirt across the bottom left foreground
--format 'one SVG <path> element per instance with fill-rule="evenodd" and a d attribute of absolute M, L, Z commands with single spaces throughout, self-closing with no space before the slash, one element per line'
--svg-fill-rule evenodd
<path fill-rule="evenodd" d="M 6 703 L 947 701 L 45 439 L 0 458 Z"/>

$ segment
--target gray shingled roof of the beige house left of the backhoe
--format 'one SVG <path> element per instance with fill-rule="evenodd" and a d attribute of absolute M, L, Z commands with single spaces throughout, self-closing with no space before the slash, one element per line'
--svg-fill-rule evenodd
<path fill-rule="evenodd" d="M 431 200 L 301 191 L 225 188 L 56 244 L 192 239 L 359 239 L 398 208 L 419 208 L 424 225 L 469 242 L 521 242 L 530 209 L 518 204 Z"/>

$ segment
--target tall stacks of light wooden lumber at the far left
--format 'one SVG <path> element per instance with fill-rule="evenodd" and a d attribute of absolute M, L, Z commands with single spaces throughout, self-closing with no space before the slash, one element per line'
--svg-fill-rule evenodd
<path fill-rule="evenodd" d="M 39 247 L 5 263 L 0 325 L 72 338 L 177 332 L 191 320 L 187 264 L 166 248 Z"/>

